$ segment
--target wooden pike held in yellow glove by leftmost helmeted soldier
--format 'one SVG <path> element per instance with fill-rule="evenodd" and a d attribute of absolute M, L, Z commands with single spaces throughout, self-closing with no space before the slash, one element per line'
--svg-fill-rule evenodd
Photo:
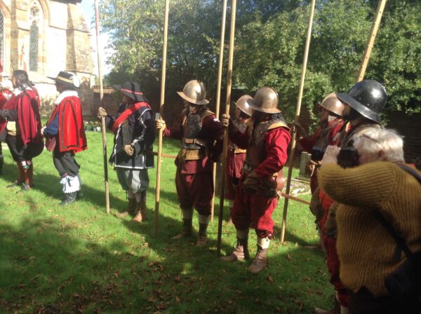
<path fill-rule="evenodd" d="M 165 1 L 165 18 L 163 21 L 163 48 L 162 48 L 162 69 L 161 69 L 161 100 L 159 102 L 159 116 L 162 117 L 163 103 L 165 102 L 165 76 L 166 76 L 166 50 L 168 39 L 168 11 L 170 1 Z M 163 129 L 159 129 L 158 135 L 158 158 L 156 161 L 156 198 L 155 198 L 155 224 L 154 237 L 158 235 L 159 222 L 159 194 L 161 189 L 161 156 L 162 156 L 162 133 Z"/>

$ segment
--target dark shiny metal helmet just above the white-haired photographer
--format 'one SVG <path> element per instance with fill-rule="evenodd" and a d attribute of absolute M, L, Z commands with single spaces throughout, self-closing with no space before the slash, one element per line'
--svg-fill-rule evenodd
<path fill-rule="evenodd" d="M 387 93 L 385 87 L 379 82 L 364 80 L 352 86 L 348 93 L 337 93 L 336 95 L 361 116 L 381 123 L 379 113 L 385 108 Z"/>

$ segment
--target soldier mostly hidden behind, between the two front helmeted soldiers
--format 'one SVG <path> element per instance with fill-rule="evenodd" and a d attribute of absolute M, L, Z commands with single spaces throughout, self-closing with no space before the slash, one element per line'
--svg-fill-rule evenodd
<path fill-rule="evenodd" d="M 248 100 L 253 97 L 250 95 L 243 95 L 234 102 L 235 104 L 235 120 L 233 121 L 236 128 L 240 132 L 244 132 L 247 128 L 248 119 L 250 118 L 253 109 L 248 104 Z M 229 212 L 232 212 L 232 206 L 234 205 L 234 198 L 236 187 L 239 184 L 241 177 L 241 168 L 243 168 L 244 160 L 246 159 L 246 149 L 240 149 L 233 142 L 229 142 L 227 151 L 227 193 L 225 198 L 229 201 Z M 229 218 L 229 224 L 232 224 L 231 217 Z"/>

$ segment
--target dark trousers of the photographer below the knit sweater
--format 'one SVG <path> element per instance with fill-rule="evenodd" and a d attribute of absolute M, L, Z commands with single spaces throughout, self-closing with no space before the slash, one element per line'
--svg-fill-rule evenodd
<path fill-rule="evenodd" d="M 417 294 L 405 297 L 373 296 L 366 287 L 350 292 L 349 314 L 419 314 L 421 303 Z"/>

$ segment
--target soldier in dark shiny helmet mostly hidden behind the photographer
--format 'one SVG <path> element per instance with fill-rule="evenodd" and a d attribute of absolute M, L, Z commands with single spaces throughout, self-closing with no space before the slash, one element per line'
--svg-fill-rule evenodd
<path fill-rule="evenodd" d="M 338 146 L 352 146 L 354 136 L 363 135 L 371 128 L 382 128 L 379 113 L 385 108 L 387 93 L 379 82 L 364 80 L 356 83 L 348 93 L 337 93 L 336 95 L 348 105 L 343 111 L 343 118 L 351 124 L 351 130 L 341 134 Z M 323 191 L 319 193 L 319 202 L 323 214 L 319 220 L 319 228 L 327 254 L 326 264 L 330 272 L 330 282 L 336 290 L 336 299 L 340 303 L 340 306 L 336 306 L 336 310 L 329 313 L 347 313 L 349 294 L 340 281 L 340 263 L 335 239 L 335 213 L 338 203 L 333 203 L 333 200 Z M 316 313 L 328 312 L 316 309 Z"/>

